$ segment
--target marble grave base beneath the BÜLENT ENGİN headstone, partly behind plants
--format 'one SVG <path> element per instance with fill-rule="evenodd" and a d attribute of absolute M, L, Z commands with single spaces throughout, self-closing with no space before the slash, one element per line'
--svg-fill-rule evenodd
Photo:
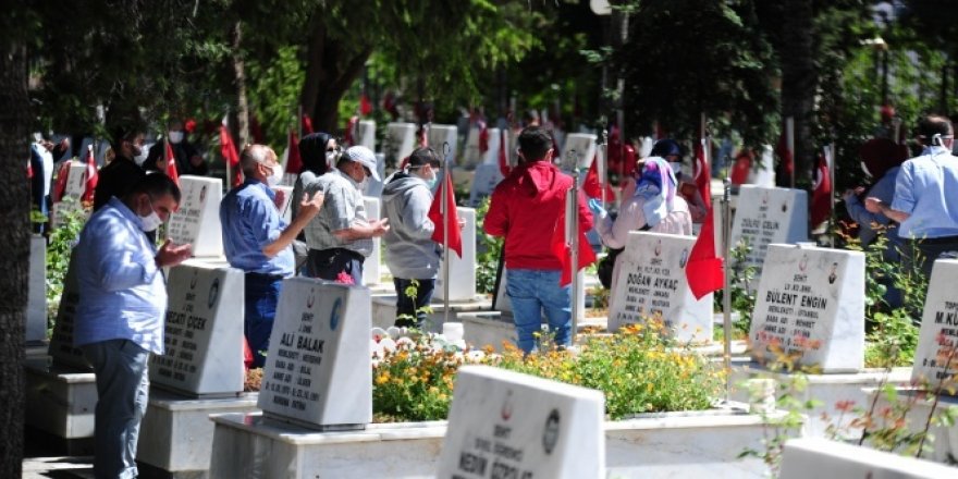
<path fill-rule="evenodd" d="M 732 400 L 748 402 L 748 391 L 738 385 L 744 384 L 746 380 L 756 378 L 773 379 L 782 391 L 794 380 L 794 374 L 771 371 L 754 361 L 736 365 L 732 369 Z M 818 400 L 821 402 L 820 406 L 805 413 L 808 416 L 805 428 L 806 435 L 826 438 L 826 428 L 832 421 L 842 418 L 843 422 L 839 426 L 847 427 L 855 419 L 853 415 L 847 413 L 843 415 L 837 409 L 838 402 L 851 401 L 856 406 L 868 407 L 871 401 L 868 393 L 863 391 L 864 388 L 877 388 L 883 382 L 895 385 L 908 384 L 911 380 L 911 368 L 894 368 L 891 372 L 886 372 L 884 369 L 867 369 L 850 373 L 805 374 L 805 378 L 808 383 L 805 391 L 799 393 L 800 397 L 796 397 L 796 400 L 800 402 Z M 823 414 L 827 416 L 826 419 L 822 418 Z M 858 437 L 853 439 L 858 440 Z"/>

